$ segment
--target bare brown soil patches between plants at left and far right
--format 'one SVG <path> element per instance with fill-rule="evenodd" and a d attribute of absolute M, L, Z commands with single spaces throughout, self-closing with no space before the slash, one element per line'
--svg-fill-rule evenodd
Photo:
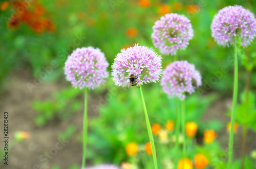
<path fill-rule="evenodd" d="M 33 123 L 33 118 L 35 117 L 36 112 L 31 108 L 31 101 L 45 100 L 51 96 L 53 91 L 63 88 L 63 85 L 59 83 L 44 83 L 36 89 L 33 89 L 33 92 L 30 93 L 26 84 L 27 82 L 33 82 L 33 77 L 28 71 L 15 73 L 11 77 L 7 89 L 0 95 L 0 108 L 2 111 L 0 127 L 1 129 L 4 128 L 3 112 L 8 111 L 9 147 L 11 144 L 13 144 L 13 147 L 9 152 L 10 157 L 8 166 L 3 164 L 1 157 L 0 168 L 33 169 L 41 167 L 50 169 L 54 164 L 57 164 L 60 168 L 66 169 L 75 163 L 80 165 L 82 149 L 81 144 L 77 141 L 77 136 L 82 129 L 82 110 L 74 113 L 69 120 L 54 120 L 42 128 L 35 126 Z M 99 103 L 99 95 L 89 95 L 88 100 L 89 104 L 91 102 L 97 105 L 97 103 Z M 229 106 L 231 106 L 230 99 L 219 100 L 209 107 L 203 119 L 207 122 L 209 119 L 216 118 L 226 124 L 229 117 L 224 115 L 223 112 L 225 112 Z M 89 107 L 88 109 L 89 116 L 94 115 L 92 108 Z M 39 157 L 56 148 L 56 144 L 59 142 L 57 139 L 58 133 L 64 131 L 70 124 L 75 124 L 78 129 L 75 135 L 68 140 L 68 143 L 63 143 L 65 145 L 57 150 L 57 152 L 52 152 L 55 153 L 54 156 L 50 156 L 52 159 L 48 159 L 48 162 L 40 162 Z M 236 157 L 240 156 L 241 130 L 242 128 L 239 127 L 234 142 Z M 16 131 L 27 131 L 30 133 L 30 138 L 23 142 L 15 143 L 13 137 Z M 2 140 L 3 132 L 1 131 L 0 133 Z M 220 142 L 227 142 L 228 134 L 226 133 L 226 130 L 219 133 L 217 139 Z M 223 144 L 222 146 L 225 148 L 227 147 L 227 144 Z M 0 148 L 3 147 L 3 141 L 0 141 Z M 58 144 L 58 147 L 61 147 L 61 144 Z M 253 149 L 256 149 L 255 133 L 249 131 L 247 154 Z M 40 165 L 40 167 L 34 167 L 37 164 Z"/>

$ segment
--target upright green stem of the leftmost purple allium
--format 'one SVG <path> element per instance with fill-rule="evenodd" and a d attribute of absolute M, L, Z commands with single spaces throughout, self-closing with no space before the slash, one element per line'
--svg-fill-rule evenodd
<path fill-rule="evenodd" d="M 86 144 L 87 144 L 87 88 L 84 88 L 84 112 L 83 112 L 83 133 L 82 133 L 82 168 L 86 166 Z"/>

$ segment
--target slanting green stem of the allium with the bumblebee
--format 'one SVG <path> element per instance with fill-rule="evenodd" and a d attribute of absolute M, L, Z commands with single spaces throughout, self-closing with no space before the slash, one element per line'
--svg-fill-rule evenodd
<path fill-rule="evenodd" d="M 152 152 L 153 152 L 154 165 L 155 165 L 155 169 L 157 169 L 157 155 L 156 155 L 155 142 L 154 142 L 154 138 L 153 138 L 153 134 L 152 134 L 152 130 L 151 130 L 150 119 L 148 118 L 148 115 L 147 115 L 147 112 L 146 112 L 146 105 L 145 105 L 145 101 L 144 101 L 144 96 L 143 96 L 142 86 L 141 85 L 140 85 L 140 94 L 141 94 L 143 108 L 144 108 L 144 113 L 145 113 L 145 118 L 146 118 L 147 132 L 148 132 L 148 136 L 150 137 L 150 143 L 151 143 L 151 148 L 152 148 Z"/>

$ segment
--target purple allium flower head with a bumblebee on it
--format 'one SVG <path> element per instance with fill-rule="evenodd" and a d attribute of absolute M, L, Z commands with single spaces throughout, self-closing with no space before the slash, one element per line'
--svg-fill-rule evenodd
<path fill-rule="evenodd" d="M 129 77 L 137 77 L 137 84 L 159 81 L 162 58 L 152 48 L 135 44 L 118 53 L 112 65 L 112 77 L 117 86 L 130 85 Z"/>

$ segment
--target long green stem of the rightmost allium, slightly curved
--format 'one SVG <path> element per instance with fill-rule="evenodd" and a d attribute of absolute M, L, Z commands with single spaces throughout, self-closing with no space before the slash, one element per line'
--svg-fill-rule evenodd
<path fill-rule="evenodd" d="M 238 55 L 237 55 L 237 37 L 234 36 L 234 86 L 233 86 L 233 106 L 231 114 L 231 129 L 229 135 L 228 150 L 228 168 L 231 169 L 233 156 L 233 139 L 234 139 L 234 120 L 236 119 L 238 100 Z"/>

